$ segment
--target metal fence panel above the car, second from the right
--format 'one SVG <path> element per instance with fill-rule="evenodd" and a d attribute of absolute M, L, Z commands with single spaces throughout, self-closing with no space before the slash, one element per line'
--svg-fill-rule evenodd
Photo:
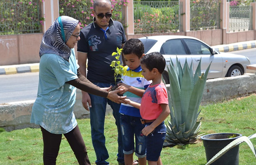
<path fill-rule="evenodd" d="M 190 2 L 190 30 L 220 28 L 219 0 Z"/>

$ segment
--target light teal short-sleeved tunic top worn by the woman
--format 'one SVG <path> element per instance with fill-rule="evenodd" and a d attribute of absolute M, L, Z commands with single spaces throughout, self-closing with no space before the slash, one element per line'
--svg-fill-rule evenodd
<path fill-rule="evenodd" d="M 37 99 L 30 123 L 53 134 L 65 134 L 77 125 L 73 113 L 76 88 L 68 83 L 77 79 L 76 57 L 72 49 L 69 62 L 59 55 L 44 54 L 39 64 Z"/>

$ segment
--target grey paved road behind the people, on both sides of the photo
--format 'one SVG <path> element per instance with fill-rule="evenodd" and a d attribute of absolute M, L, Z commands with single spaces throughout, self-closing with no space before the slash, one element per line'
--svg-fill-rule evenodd
<path fill-rule="evenodd" d="M 246 55 L 256 64 L 256 48 L 230 53 Z M 14 101 L 35 100 L 38 88 L 38 72 L 0 75 L 0 104 Z"/>

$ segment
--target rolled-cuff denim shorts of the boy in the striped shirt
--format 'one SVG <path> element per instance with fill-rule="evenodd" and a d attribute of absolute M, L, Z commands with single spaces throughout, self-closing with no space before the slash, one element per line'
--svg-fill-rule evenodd
<path fill-rule="evenodd" d="M 146 156 L 146 136 L 141 132 L 143 128 L 141 118 L 120 114 L 120 124 L 124 154 L 128 155 L 135 152 L 138 158 L 144 158 Z"/>

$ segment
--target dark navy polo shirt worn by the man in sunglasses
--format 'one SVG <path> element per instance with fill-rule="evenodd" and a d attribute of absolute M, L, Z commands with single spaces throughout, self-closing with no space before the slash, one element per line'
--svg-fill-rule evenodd
<path fill-rule="evenodd" d="M 77 51 L 88 53 L 87 79 L 91 82 L 115 83 L 114 71 L 110 66 L 115 59 L 112 53 L 126 42 L 124 27 L 118 21 L 109 20 L 106 33 L 91 23 L 80 31 Z M 119 59 L 122 63 L 122 58 Z"/>

